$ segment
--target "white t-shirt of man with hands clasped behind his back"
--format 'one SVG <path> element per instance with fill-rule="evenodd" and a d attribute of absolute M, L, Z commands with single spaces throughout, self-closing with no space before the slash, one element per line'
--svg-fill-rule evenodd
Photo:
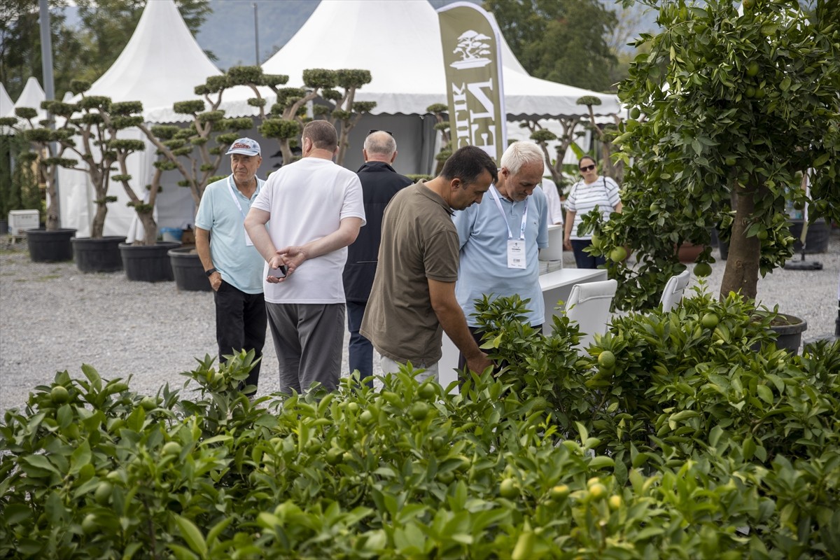
<path fill-rule="evenodd" d="M 341 220 L 365 220 L 359 176 L 322 158 L 303 158 L 269 175 L 251 205 L 271 214 L 268 232 L 277 249 L 303 245 L 339 229 Z M 279 284 L 263 282 L 270 303 L 344 303 L 347 248 L 308 259 Z M 264 276 L 268 275 L 265 264 Z"/>

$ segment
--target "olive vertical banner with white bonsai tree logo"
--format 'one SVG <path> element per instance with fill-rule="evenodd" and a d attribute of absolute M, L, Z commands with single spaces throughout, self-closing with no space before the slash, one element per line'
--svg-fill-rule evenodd
<path fill-rule="evenodd" d="M 466 2 L 438 9 L 438 19 L 452 149 L 477 146 L 498 164 L 507 144 L 507 113 L 496 21 Z"/>

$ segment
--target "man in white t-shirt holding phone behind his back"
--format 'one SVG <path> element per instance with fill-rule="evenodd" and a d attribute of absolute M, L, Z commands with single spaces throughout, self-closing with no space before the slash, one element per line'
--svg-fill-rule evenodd
<path fill-rule="evenodd" d="M 265 306 L 284 393 L 339 384 L 342 272 L 347 246 L 365 225 L 365 206 L 359 176 L 333 163 L 338 143 L 332 124 L 307 123 L 302 160 L 269 176 L 245 218 L 266 260 Z"/>

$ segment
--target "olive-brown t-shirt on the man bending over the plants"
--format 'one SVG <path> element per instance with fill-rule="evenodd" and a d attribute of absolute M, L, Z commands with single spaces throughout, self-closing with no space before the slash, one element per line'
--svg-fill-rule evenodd
<path fill-rule="evenodd" d="M 458 248 L 449 204 L 423 181 L 391 199 L 360 328 L 383 356 L 427 366 L 440 360 L 443 329 L 432 309 L 428 279 L 458 280 Z"/>

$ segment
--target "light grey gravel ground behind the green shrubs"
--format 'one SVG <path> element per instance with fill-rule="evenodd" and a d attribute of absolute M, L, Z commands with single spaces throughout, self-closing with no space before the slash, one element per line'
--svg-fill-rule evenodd
<path fill-rule="evenodd" d="M 834 332 L 840 230 L 832 231 L 827 253 L 806 260 L 822 262 L 823 269 L 776 270 L 759 279 L 759 301 L 805 318 L 807 340 Z M 569 252 L 564 266 L 575 266 Z M 711 289 L 720 285 L 724 266 L 712 265 Z M 133 375 L 132 388 L 145 394 L 165 383 L 180 387 L 186 379 L 180 372 L 192 369 L 196 357 L 215 353 L 214 332 L 209 292 L 129 282 L 123 272 L 81 274 L 72 262 L 32 263 L 25 243 L 0 248 L 0 414 L 24 406 L 29 391 L 49 385 L 56 371 L 83 377 L 81 364 L 106 379 Z M 260 395 L 279 389 L 270 333 L 267 338 Z"/>

